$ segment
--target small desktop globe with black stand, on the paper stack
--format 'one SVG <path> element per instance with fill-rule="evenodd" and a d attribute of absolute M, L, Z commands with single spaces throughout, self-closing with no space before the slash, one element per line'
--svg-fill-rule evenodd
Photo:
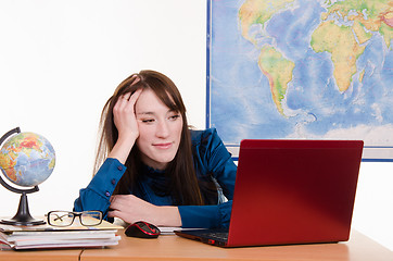
<path fill-rule="evenodd" d="M 12 136 L 15 134 L 14 136 Z M 3 141 L 8 139 L 4 144 Z M 3 144 L 3 145 L 2 145 Z M 22 194 L 16 215 L 11 220 L 1 220 L 2 224 L 38 225 L 43 221 L 31 217 L 27 204 L 27 194 L 38 191 L 38 185 L 45 182 L 53 172 L 55 153 L 52 145 L 43 136 L 35 133 L 21 133 L 14 128 L 0 139 L 0 170 L 7 179 L 21 189 L 4 182 L 0 175 L 0 183 L 9 190 Z"/>

